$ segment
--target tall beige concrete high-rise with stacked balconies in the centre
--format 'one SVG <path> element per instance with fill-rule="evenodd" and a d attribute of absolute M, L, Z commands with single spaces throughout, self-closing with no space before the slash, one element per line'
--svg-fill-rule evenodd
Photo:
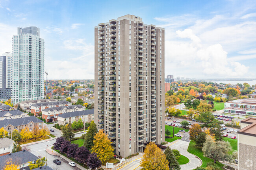
<path fill-rule="evenodd" d="M 95 27 L 95 122 L 122 157 L 165 141 L 164 42 L 134 15 Z"/>

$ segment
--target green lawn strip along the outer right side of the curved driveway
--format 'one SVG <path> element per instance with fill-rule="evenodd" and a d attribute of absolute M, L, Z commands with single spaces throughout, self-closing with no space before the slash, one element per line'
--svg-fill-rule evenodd
<path fill-rule="evenodd" d="M 210 159 L 208 157 L 204 157 L 203 152 L 202 152 L 202 148 L 198 147 L 198 146 L 195 146 L 195 143 L 192 142 L 192 141 L 190 141 L 190 143 L 189 143 L 189 146 L 187 148 L 187 152 L 198 156 L 202 160 L 203 163 L 202 163 L 201 167 L 206 168 L 208 162 L 213 162 L 212 159 Z M 219 163 L 219 161 L 216 162 L 216 165 L 219 166 L 221 169 L 224 166 L 222 163 Z"/>

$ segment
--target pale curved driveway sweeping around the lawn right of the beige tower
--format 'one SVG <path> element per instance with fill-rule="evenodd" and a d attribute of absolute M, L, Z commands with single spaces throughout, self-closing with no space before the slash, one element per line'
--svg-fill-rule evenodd
<path fill-rule="evenodd" d="M 197 166 L 202 165 L 202 160 L 200 158 L 187 152 L 189 142 L 176 140 L 176 141 L 173 141 L 173 143 L 171 144 L 170 143 L 165 144 L 165 146 L 170 146 L 171 149 L 176 149 L 180 151 L 181 155 L 184 155 L 189 159 L 189 163 L 180 165 L 181 170 L 193 170 L 197 168 Z"/>

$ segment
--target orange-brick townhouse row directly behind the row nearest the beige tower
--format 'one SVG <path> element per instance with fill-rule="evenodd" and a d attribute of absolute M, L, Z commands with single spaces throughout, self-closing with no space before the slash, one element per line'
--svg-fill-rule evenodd
<path fill-rule="evenodd" d="M 45 119 L 46 122 L 48 122 L 50 118 L 52 118 L 53 121 L 57 121 L 57 116 L 59 114 L 74 112 L 74 111 L 82 111 L 82 110 L 85 110 L 85 106 L 82 106 L 80 104 L 48 108 L 48 109 L 42 110 L 42 118 Z"/>

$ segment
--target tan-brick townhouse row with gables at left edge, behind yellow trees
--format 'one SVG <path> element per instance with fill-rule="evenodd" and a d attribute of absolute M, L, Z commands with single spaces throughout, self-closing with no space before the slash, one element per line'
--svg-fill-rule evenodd
<path fill-rule="evenodd" d="M 38 126 L 39 129 L 42 129 L 43 121 L 33 116 L 17 119 L 4 119 L 0 121 L 0 128 L 4 127 L 4 129 L 8 132 L 8 135 L 11 135 L 15 129 L 18 130 L 18 132 L 21 132 L 22 129 L 28 127 L 29 130 L 32 131 L 36 126 Z"/>

